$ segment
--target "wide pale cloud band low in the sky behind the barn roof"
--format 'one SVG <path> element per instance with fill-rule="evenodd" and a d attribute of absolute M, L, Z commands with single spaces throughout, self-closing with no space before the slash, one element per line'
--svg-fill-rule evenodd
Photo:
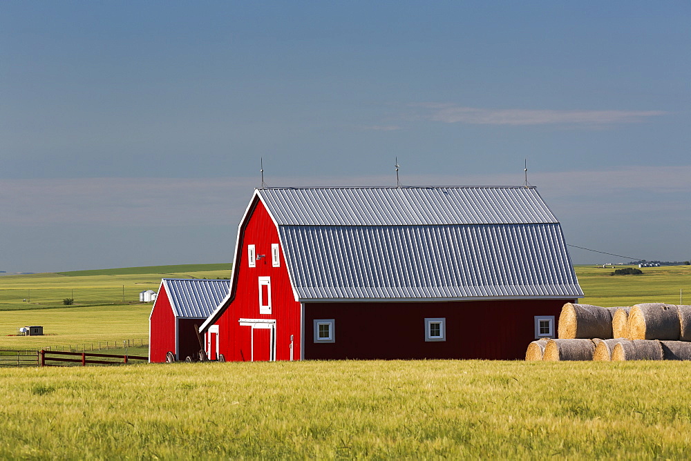
<path fill-rule="evenodd" d="M 665 203 L 683 204 L 691 193 L 691 166 L 632 166 L 607 171 L 529 173 L 550 204 L 568 203 L 569 210 L 584 204 L 593 213 L 607 206 L 612 197 L 632 197 L 632 207 L 641 197 L 665 194 Z M 401 170 L 407 186 L 519 186 L 523 171 L 495 175 L 419 175 Z M 389 175 L 343 177 L 272 177 L 270 186 L 395 186 Z M 44 226 L 101 224 L 117 226 L 180 226 L 186 224 L 234 226 L 242 217 L 257 178 L 209 179 L 82 178 L 0 179 L 3 225 Z M 607 198 L 609 197 L 609 199 Z M 621 207 L 621 204 L 617 204 Z"/>

